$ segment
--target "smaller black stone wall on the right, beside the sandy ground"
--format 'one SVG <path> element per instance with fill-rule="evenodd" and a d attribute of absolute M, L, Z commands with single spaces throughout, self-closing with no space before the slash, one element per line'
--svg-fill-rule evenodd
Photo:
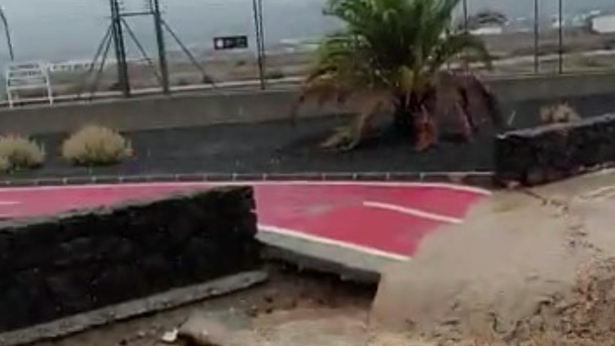
<path fill-rule="evenodd" d="M 507 132 L 496 140 L 496 180 L 537 185 L 615 161 L 615 115 Z"/>

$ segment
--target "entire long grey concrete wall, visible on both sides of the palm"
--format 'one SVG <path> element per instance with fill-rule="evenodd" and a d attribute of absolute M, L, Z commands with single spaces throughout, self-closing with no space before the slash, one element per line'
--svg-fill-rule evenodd
<path fill-rule="evenodd" d="M 615 73 L 488 79 L 504 102 L 549 100 L 615 93 Z M 296 88 L 277 91 L 202 92 L 130 100 L 66 103 L 0 111 L 0 133 L 41 134 L 101 124 L 121 131 L 203 126 L 288 118 Z M 335 107 L 304 107 L 303 116 L 327 115 Z"/>

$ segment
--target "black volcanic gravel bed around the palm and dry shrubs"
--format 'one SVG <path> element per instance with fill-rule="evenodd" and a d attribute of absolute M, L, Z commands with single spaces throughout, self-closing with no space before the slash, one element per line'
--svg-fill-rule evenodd
<path fill-rule="evenodd" d="M 582 116 L 615 110 L 615 98 L 598 95 L 571 100 L 533 101 L 502 105 L 502 115 L 513 128 L 538 124 L 539 108 L 566 101 Z M 128 133 L 136 156 L 112 167 L 73 167 L 59 157 L 65 134 L 42 135 L 47 161 L 41 169 L 6 175 L 8 179 L 85 175 L 191 174 L 213 172 L 446 172 L 491 171 L 494 131 L 484 131 L 472 142 L 443 140 L 437 148 L 418 153 L 407 137 L 390 127 L 389 118 L 352 151 L 323 151 L 319 142 L 347 118 L 301 119 L 258 124 L 224 124 Z"/>

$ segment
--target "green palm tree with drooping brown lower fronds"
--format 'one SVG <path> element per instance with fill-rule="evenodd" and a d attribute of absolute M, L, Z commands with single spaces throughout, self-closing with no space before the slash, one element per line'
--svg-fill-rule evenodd
<path fill-rule="evenodd" d="M 357 118 L 323 143 L 328 148 L 354 148 L 371 119 L 383 113 L 394 116 L 395 127 L 410 134 L 419 150 L 437 142 L 438 115 L 456 114 L 469 138 L 478 128 L 470 108 L 494 114 L 496 104 L 466 70 L 442 71 L 470 53 L 490 66 L 482 41 L 451 29 L 459 1 L 329 0 L 325 15 L 341 19 L 344 28 L 320 43 L 293 115 L 314 97 L 355 107 Z"/>

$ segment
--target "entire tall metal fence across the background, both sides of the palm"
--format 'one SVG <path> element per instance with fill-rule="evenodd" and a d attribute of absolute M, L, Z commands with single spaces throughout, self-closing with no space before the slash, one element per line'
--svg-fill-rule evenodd
<path fill-rule="evenodd" d="M 300 78 L 319 39 L 339 28 L 322 14 L 326 2 L 5 0 L 2 9 L 15 61 L 49 63 L 57 94 L 128 95 Z M 606 0 L 463 0 L 456 23 L 485 40 L 489 73 L 605 70 L 615 66 L 611 9 Z M 216 49 L 216 38 L 242 37 L 247 47 Z"/>

